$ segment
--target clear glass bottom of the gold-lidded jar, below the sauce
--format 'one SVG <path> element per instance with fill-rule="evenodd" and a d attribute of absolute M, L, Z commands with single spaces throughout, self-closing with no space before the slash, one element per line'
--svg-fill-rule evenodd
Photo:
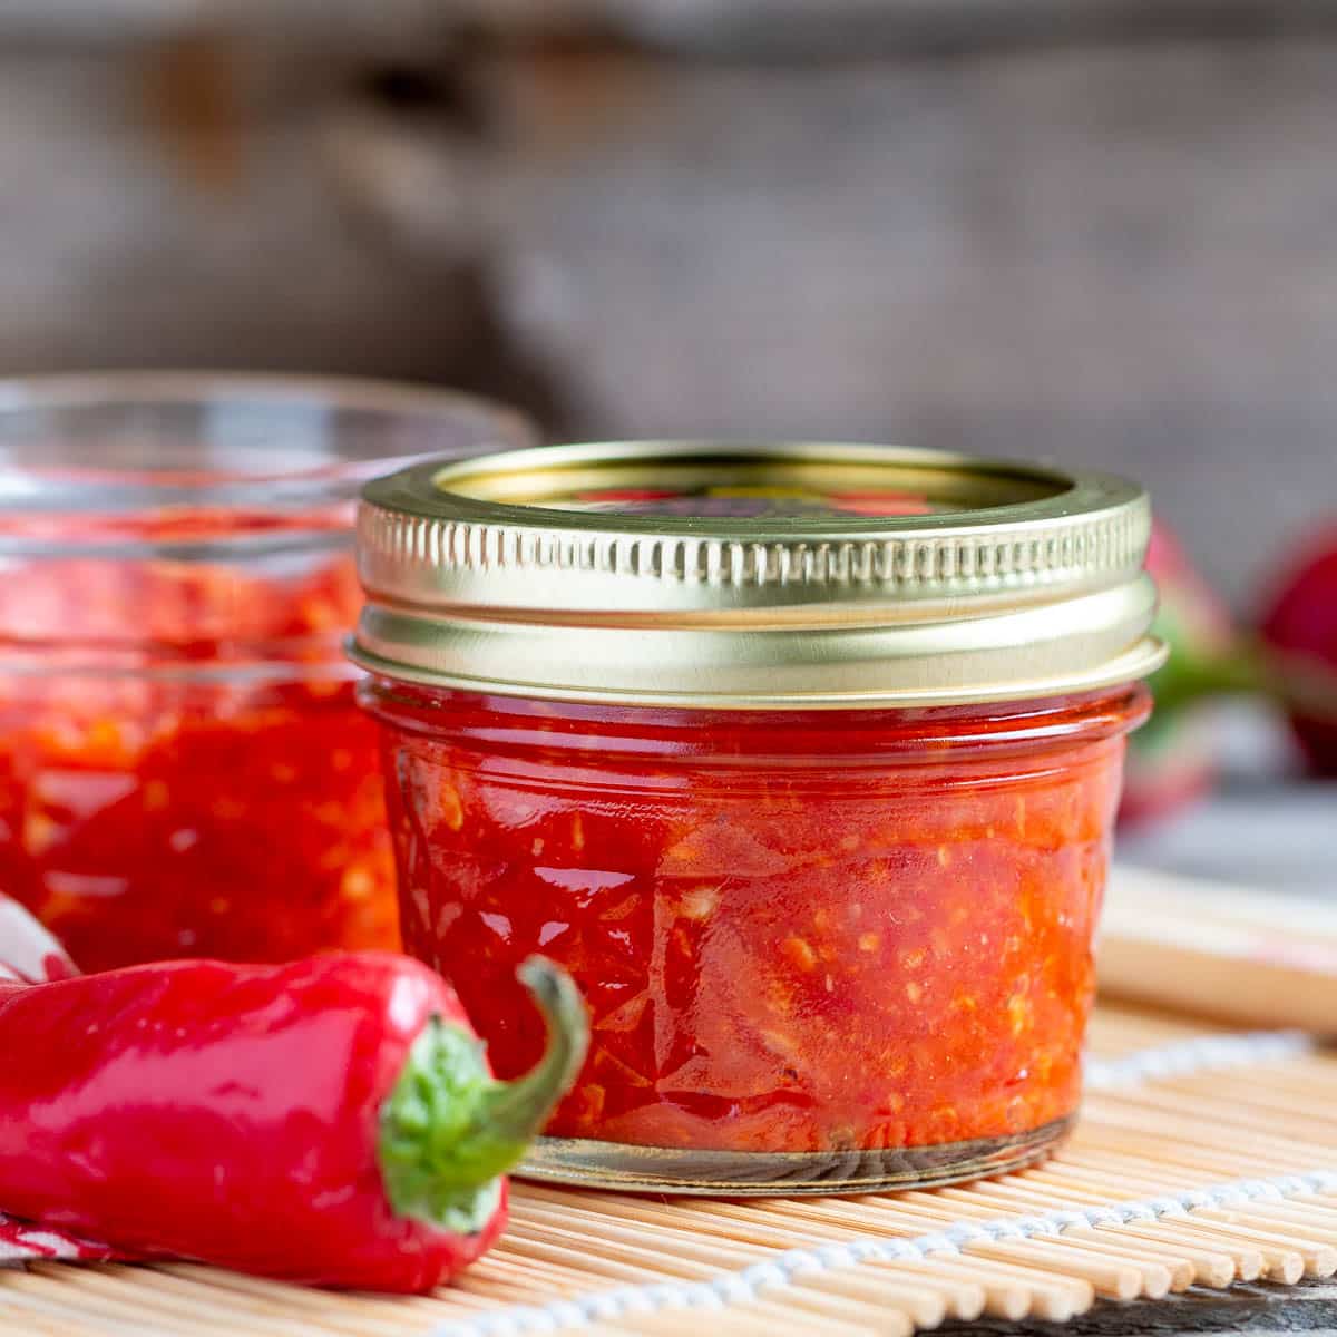
<path fill-rule="evenodd" d="M 877 1151 L 691 1151 L 539 1138 L 515 1174 L 582 1189 L 715 1198 L 928 1189 L 1034 1165 L 1054 1151 L 1072 1123 L 1070 1116 L 1005 1138 Z"/>

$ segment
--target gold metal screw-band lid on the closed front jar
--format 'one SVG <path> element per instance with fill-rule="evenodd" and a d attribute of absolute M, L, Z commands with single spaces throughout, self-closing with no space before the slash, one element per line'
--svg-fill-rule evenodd
<path fill-rule="evenodd" d="M 935 706 L 1132 682 L 1146 493 L 877 445 L 638 441 L 370 483 L 350 652 L 468 691 L 693 707 Z"/>

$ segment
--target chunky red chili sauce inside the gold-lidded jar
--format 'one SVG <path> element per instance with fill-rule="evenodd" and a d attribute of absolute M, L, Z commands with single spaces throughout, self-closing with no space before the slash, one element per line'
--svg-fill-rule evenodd
<path fill-rule="evenodd" d="M 1143 689 L 786 714 L 364 691 L 405 944 L 497 1072 L 543 1042 L 520 960 L 584 991 L 550 1134 L 821 1151 L 1072 1112 Z"/>

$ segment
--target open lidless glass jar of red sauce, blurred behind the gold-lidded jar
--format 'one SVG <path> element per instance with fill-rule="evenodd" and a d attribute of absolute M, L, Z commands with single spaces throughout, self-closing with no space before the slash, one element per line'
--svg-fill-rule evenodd
<path fill-rule="evenodd" d="M 376 382 L 0 382 L 0 890 L 84 969 L 397 947 L 357 491 L 532 441 Z"/>

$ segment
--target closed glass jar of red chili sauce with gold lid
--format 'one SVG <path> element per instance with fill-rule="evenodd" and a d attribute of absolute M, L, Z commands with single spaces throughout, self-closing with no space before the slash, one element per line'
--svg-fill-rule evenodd
<path fill-rule="evenodd" d="M 1080 1094 L 1144 495 L 878 447 L 424 464 L 360 520 L 408 949 L 503 1075 L 541 952 L 588 1060 L 525 1174 L 853 1191 L 1003 1171 Z"/>

